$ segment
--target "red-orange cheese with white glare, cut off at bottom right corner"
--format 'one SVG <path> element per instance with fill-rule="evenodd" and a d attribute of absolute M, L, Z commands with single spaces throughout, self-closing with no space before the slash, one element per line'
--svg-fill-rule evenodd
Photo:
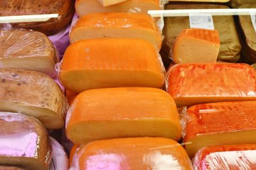
<path fill-rule="evenodd" d="M 256 169 L 256 145 L 209 146 L 196 152 L 195 170 L 203 169 Z"/>

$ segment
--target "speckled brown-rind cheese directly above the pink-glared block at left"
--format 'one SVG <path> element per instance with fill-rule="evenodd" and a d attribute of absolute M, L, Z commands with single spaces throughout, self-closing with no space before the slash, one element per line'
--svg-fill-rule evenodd
<path fill-rule="evenodd" d="M 67 99 L 49 76 L 19 69 L 0 69 L 0 111 L 38 118 L 47 129 L 64 126 Z"/>

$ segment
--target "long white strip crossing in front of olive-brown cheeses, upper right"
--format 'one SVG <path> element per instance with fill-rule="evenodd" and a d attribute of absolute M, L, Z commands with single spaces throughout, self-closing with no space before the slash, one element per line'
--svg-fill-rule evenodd
<path fill-rule="evenodd" d="M 241 9 L 200 9 L 200 10 L 149 10 L 152 17 L 184 17 L 189 15 L 252 15 L 256 13 L 256 8 Z"/>

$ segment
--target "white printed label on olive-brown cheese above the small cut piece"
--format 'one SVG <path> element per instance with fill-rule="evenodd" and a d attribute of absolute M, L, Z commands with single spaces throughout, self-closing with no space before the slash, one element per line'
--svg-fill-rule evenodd
<path fill-rule="evenodd" d="M 189 14 L 189 23 L 191 28 L 214 29 L 211 14 Z"/>

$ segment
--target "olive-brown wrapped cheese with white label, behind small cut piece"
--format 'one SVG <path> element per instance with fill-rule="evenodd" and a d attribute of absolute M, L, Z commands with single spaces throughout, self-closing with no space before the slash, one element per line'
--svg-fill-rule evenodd
<path fill-rule="evenodd" d="M 166 10 L 183 10 L 183 9 L 227 9 L 228 7 L 222 4 L 166 4 Z M 218 60 L 225 62 L 236 62 L 240 58 L 241 45 L 237 36 L 236 24 L 232 16 L 212 16 L 213 27 L 220 35 L 220 53 Z M 225 23 L 225 24 L 223 24 Z M 204 23 L 202 23 L 204 25 Z M 161 49 L 161 56 L 168 65 L 170 63 L 172 45 L 179 33 L 190 27 L 189 17 L 164 17 L 164 41 Z"/>

